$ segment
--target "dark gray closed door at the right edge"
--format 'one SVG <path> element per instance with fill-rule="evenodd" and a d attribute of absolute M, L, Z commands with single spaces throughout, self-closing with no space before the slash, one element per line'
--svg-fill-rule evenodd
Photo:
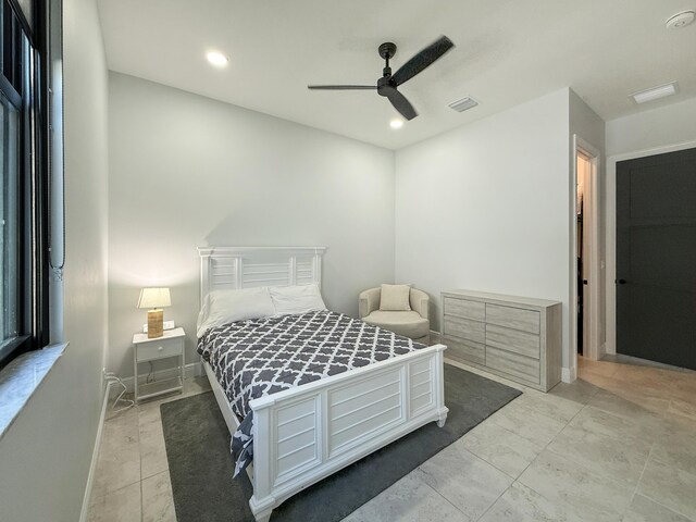
<path fill-rule="evenodd" d="M 696 370 L 696 149 L 617 163 L 617 351 Z"/>

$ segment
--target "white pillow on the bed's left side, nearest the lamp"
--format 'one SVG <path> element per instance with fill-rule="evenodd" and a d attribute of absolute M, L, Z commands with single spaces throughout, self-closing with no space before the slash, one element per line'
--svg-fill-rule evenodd
<path fill-rule="evenodd" d="M 207 330 L 235 321 L 270 318 L 275 308 L 269 288 L 243 288 L 239 290 L 213 290 L 203 301 L 198 314 L 197 335 Z"/>

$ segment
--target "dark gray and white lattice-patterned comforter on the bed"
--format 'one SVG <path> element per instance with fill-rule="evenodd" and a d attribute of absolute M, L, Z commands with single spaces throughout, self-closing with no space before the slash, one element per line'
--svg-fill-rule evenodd
<path fill-rule="evenodd" d="M 424 347 L 326 310 L 239 321 L 206 332 L 198 352 L 243 420 L 231 443 L 235 476 L 253 458 L 250 400 Z"/>

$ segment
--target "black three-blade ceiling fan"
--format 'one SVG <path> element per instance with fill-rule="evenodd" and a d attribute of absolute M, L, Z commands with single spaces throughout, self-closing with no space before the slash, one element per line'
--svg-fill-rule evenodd
<path fill-rule="evenodd" d="M 387 41 L 378 48 L 380 55 L 385 60 L 385 66 L 382 71 L 383 76 L 377 79 L 377 85 L 308 85 L 308 89 L 313 90 L 374 90 L 377 95 L 386 97 L 394 108 L 401 113 L 407 120 L 413 120 L 418 116 L 418 112 L 406 97 L 397 90 L 397 87 L 411 79 L 424 69 L 432 65 L 435 61 L 449 51 L 455 44 L 446 36 L 439 37 L 433 44 L 427 46 L 421 52 L 417 53 L 401 67 L 391 74 L 389 60 L 396 54 L 396 45 Z"/>

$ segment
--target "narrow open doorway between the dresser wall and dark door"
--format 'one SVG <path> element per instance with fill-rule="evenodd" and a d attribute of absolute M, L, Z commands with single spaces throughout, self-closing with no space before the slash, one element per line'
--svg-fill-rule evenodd
<path fill-rule="evenodd" d="M 579 136 L 573 137 L 574 202 L 573 208 L 573 309 L 572 346 L 585 359 L 599 360 L 600 323 L 600 244 L 599 183 L 600 153 Z"/>

